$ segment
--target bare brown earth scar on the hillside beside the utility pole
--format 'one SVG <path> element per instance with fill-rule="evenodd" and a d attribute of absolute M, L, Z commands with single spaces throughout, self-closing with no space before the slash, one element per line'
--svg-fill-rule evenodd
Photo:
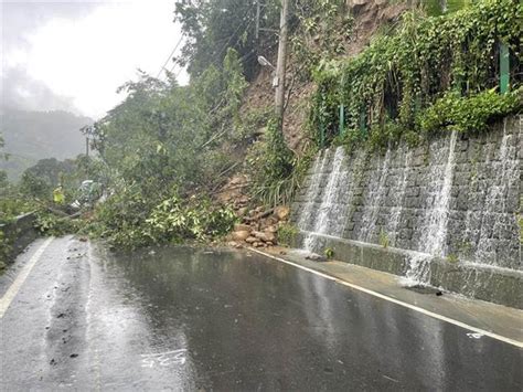
<path fill-rule="evenodd" d="M 371 39 L 386 33 L 409 8 L 387 0 L 297 2 L 289 42 L 284 133 L 296 152 L 307 145 L 307 119 L 316 82 L 313 71 L 332 59 L 353 57 Z M 265 54 L 265 53 L 264 53 Z M 276 63 L 276 51 L 267 55 Z M 260 68 L 245 94 L 243 113 L 274 105 L 273 73 Z"/>

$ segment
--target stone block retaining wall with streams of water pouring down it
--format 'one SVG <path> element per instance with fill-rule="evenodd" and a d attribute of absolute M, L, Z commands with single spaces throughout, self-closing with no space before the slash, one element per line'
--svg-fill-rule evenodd
<path fill-rule="evenodd" d="M 292 208 L 308 233 L 302 247 L 321 252 L 319 233 L 522 269 L 522 124 L 509 118 L 484 134 L 441 134 L 416 148 L 320 152 Z"/>

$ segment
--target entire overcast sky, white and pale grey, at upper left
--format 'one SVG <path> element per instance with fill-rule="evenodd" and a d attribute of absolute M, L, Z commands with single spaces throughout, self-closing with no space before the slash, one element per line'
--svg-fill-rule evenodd
<path fill-rule="evenodd" d="M 0 1 L 0 104 L 22 109 L 97 119 L 137 68 L 157 76 L 181 34 L 174 0 Z"/>

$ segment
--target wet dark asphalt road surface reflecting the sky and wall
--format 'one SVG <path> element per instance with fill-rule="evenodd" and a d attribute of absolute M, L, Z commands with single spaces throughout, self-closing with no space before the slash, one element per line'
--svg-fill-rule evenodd
<path fill-rule="evenodd" d="M 0 295 L 9 284 L 0 278 Z M 259 255 L 115 256 L 58 239 L 1 319 L 1 382 L 6 391 L 521 391 L 523 350 L 468 332 Z"/>

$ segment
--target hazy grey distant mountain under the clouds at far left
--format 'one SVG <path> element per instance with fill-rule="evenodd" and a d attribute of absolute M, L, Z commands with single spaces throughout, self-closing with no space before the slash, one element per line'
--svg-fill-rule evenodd
<path fill-rule="evenodd" d="M 9 179 L 17 181 L 40 159 L 76 157 L 85 151 L 85 138 L 79 128 L 88 124 L 93 124 L 93 119 L 68 112 L 2 109 L 0 134 L 10 158 L 0 160 L 0 170 L 6 170 Z"/>

